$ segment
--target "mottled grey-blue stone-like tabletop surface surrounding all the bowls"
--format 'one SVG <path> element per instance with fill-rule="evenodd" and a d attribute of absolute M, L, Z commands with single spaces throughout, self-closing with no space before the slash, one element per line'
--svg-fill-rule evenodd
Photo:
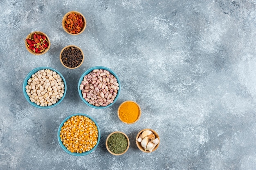
<path fill-rule="evenodd" d="M 1 0 L 0 169 L 256 169 L 255 0 Z M 61 26 L 68 11 L 80 11 L 81 35 Z M 24 39 L 43 31 L 47 54 L 27 52 Z M 59 53 L 79 46 L 83 65 L 68 70 Z M 77 92 L 85 70 L 103 65 L 119 76 L 122 91 L 112 107 L 92 109 Z M 52 109 L 37 109 L 23 96 L 29 71 L 49 66 L 67 81 L 67 94 Z M 141 106 L 135 124 L 124 124 L 117 108 L 125 100 Z M 59 124 L 73 113 L 92 116 L 101 129 L 99 146 L 75 157 L 58 144 Z M 159 148 L 142 153 L 141 129 L 159 133 Z M 130 148 L 113 156 L 106 137 L 123 131 Z"/>

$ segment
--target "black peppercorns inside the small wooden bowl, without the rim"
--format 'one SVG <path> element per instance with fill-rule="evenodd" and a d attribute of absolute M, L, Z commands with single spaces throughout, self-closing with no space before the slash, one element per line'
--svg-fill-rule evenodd
<path fill-rule="evenodd" d="M 75 68 L 82 62 L 83 55 L 79 48 L 68 47 L 61 53 L 61 60 L 67 67 Z"/>

